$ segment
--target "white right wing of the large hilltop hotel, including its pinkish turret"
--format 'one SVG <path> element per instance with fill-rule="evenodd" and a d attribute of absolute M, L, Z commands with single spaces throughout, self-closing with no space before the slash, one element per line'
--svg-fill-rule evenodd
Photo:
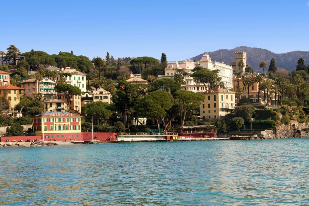
<path fill-rule="evenodd" d="M 197 64 L 209 70 L 220 70 L 218 76 L 222 78 L 222 82 L 225 83 L 226 89 L 233 87 L 233 68 L 230 65 L 224 64 L 223 62 L 211 61 L 208 54 L 203 54 L 200 61 Z"/>

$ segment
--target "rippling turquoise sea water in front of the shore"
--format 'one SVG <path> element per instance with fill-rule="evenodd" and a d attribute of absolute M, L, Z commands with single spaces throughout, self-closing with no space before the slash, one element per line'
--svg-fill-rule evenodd
<path fill-rule="evenodd" d="M 0 148 L 0 204 L 309 204 L 309 138 Z"/>

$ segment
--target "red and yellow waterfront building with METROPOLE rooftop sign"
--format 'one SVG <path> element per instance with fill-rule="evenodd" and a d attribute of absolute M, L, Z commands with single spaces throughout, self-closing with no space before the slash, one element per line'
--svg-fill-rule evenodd
<path fill-rule="evenodd" d="M 32 131 L 42 135 L 44 141 L 79 138 L 81 135 L 79 114 L 69 112 L 42 112 L 32 116 Z"/>

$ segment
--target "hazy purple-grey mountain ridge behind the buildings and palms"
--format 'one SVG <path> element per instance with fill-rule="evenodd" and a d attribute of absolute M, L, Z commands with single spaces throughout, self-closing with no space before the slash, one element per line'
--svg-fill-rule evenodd
<path fill-rule="evenodd" d="M 234 49 L 219 49 L 213 52 L 207 52 L 210 55 L 212 61 L 221 62 L 221 53 L 222 60 L 224 63 L 235 62 L 234 53 L 238 51 L 247 52 L 247 65 L 251 66 L 254 71 L 262 71 L 259 67 L 259 64 L 262 60 L 267 62 L 269 66 L 271 58 L 275 58 L 277 68 L 285 68 L 288 71 L 292 71 L 297 66 L 298 58 L 304 58 L 306 65 L 309 65 L 309 51 L 292 51 L 282 54 L 273 53 L 267 49 L 261 49 L 256 47 L 247 47 L 239 46 Z M 190 59 L 195 59 L 196 61 L 201 60 L 203 54 L 197 55 Z M 268 71 L 268 67 L 267 70 Z"/>

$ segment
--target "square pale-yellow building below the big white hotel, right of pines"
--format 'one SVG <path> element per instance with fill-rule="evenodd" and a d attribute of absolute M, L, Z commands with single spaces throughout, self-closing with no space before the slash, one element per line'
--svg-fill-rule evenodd
<path fill-rule="evenodd" d="M 231 113 L 236 106 L 233 91 L 217 87 L 201 94 L 205 96 L 205 100 L 200 105 L 200 116 L 203 119 L 225 116 Z"/>

